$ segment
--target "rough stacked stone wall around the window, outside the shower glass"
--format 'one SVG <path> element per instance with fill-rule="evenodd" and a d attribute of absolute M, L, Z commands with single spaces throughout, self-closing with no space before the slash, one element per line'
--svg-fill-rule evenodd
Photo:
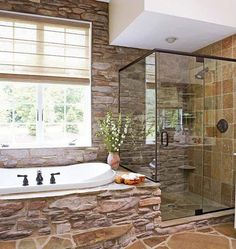
<path fill-rule="evenodd" d="M 70 164 L 104 160 L 96 138 L 97 121 L 108 108 L 117 111 L 118 69 L 146 51 L 109 46 L 108 4 L 95 0 L 0 0 L 0 9 L 92 22 L 92 148 L 0 150 L 0 167 Z"/>

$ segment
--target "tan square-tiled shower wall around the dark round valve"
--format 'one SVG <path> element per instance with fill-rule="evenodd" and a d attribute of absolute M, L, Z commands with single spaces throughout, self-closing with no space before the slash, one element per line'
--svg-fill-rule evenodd
<path fill-rule="evenodd" d="M 236 35 L 216 42 L 198 51 L 199 54 L 236 58 Z M 236 146 L 236 65 L 230 62 L 213 64 L 205 60 L 209 72 L 205 78 L 205 138 L 212 145 L 189 151 L 192 162 L 204 156 L 204 168 L 195 163 L 197 170 L 189 177 L 190 190 L 226 206 L 234 206 L 234 175 Z M 200 109 L 202 109 L 200 107 Z M 229 129 L 220 133 L 216 124 L 226 119 Z M 201 165 L 200 165 L 201 166 Z M 204 178 L 202 178 L 202 170 Z"/>

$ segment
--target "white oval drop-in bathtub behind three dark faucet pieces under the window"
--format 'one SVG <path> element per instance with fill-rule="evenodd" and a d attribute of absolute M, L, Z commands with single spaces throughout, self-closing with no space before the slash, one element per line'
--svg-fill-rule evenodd
<path fill-rule="evenodd" d="M 42 171 L 43 185 L 37 185 L 38 170 Z M 50 184 L 51 173 L 56 175 L 56 184 Z M 17 175 L 28 175 L 28 186 L 22 186 L 23 178 Z M 0 168 L 0 195 L 30 193 L 54 190 L 69 190 L 98 187 L 111 183 L 115 172 L 105 163 L 81 163 L 59 167 L 36 168 Z"/>

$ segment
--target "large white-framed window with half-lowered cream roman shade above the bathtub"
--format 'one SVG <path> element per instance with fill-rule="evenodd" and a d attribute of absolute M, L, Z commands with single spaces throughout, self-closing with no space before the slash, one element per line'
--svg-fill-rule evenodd
<path fill-rule="evenodd" d="M 1 14 L 0 144 L 90 146 L 90 25 Z"/>

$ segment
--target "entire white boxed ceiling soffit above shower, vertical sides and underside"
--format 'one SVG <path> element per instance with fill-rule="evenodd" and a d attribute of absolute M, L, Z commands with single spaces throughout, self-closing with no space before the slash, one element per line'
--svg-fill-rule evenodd
<path fill-rule="evenodd" d="M 173 0 L 111 0 L 110 43 L 193 52 L 235 34 L 236 1 L 224 0 L 215 5 L 212 1 L 178 0 L 178 4 L 168 5 Z M 161 8 L 158 2 L 163 3 Z M 178 39 L 168 44 L 167 37 Z"/>

